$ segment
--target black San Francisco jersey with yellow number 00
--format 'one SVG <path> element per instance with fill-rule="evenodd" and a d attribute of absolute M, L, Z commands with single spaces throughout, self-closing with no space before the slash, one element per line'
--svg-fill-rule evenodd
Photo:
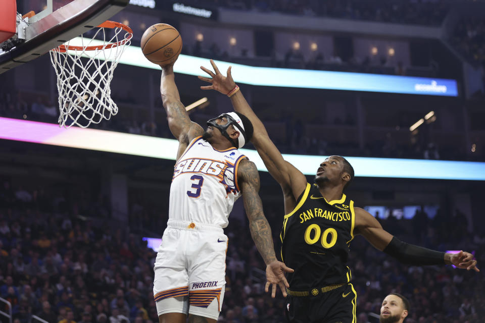
<path fill-rule="evenodd" d="M 327 201 L 318 187 L 307 187 L 295 209 L 284 216 L 281 257 L 295 270 L 288 275 L 290 289 L 308 289 L 350 282 L 346 265 L 354 238 L 354 201 L 342 194 Z"/>

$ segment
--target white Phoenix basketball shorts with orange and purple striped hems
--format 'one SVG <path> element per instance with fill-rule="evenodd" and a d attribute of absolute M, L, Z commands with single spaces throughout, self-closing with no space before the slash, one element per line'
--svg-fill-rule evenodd
<path fill-rule="evenodd" d="M 218 226 L 168 221 L 154 267 L 153 295 L 159 316 L 219 317 L 226 285 L 227 240 Z"/>

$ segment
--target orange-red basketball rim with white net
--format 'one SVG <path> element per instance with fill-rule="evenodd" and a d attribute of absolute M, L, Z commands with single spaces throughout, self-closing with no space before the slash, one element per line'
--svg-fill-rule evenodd
<path fill-rule="evenodd" d="M 113 36 L 108 35 L 111 30 Z M 132 37 L 130 27 L 107 20 L 91 38 L 81 35 L 80 45 L 72 45 L 70 40 L 50 51 L 57 74 L 60 127 L 86 128 L 118 113 L 118 106 L 111 99 L 110 83 Z"/>

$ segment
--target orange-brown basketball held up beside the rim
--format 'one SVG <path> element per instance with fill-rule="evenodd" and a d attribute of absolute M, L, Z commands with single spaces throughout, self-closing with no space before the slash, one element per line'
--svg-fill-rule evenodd
<path fill-rule="evenodd" d="M 140 47 L 147 60 L 164 66 L 177 60 L 182 50 L 182 37 L 170 25 L 155 24 L 141 36 Z"/>

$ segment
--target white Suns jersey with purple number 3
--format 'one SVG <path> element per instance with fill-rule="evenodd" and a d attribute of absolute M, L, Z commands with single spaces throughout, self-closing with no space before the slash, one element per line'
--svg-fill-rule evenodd
<path fill-rule="evenodd" d="M 245 157 L 236 148 L 219 151 L 202 137 L 193 139 L 174 168 L 169 219 L 227 227 Z"/>

